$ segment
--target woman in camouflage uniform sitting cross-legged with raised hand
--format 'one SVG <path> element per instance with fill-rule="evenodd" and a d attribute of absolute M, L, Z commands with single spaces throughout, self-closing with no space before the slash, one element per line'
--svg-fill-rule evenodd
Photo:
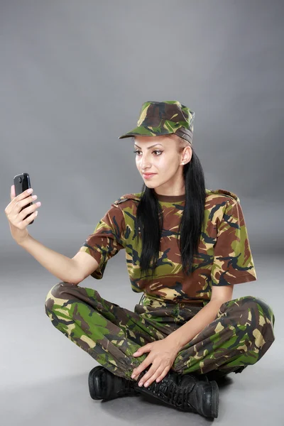
<path fill-rule="evenodd" d="M 192 146 L 195 112 L 178 101 L 145 102 L 133 138 L 141 192 L 121 196 L 72 258 L 33 239 L 28 191 L 6 207 L 13 239 L 53 275 L 45 312 L 99 364 L 93 399 L 151 395 L 179 410 L 217 417 L 218 378 L 256 364 L 273 343 L 275 317 L 262 299 L 232 299 L 234 284 L 256 280 L 239 197 L 207 190 Z M 25 219 L 26 214 L 33 212 Z M 126 251 L 134 311 L 78 284 L 102 279 Z M 86 254 L 87 253 L 87 254 Z"/>

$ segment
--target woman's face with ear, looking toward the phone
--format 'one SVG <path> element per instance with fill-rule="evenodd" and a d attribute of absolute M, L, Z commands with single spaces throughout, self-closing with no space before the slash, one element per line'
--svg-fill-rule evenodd
<path fill-rule="evenodd" d="M 179 141 L 171 136 L 135 136 L 136 167 L 144 183 L 160 194 L 173 195 L 182 191 L 182 168 L 190 161 L 189 146 L 178 149 Z M 184 164 L 182 164 L 184 162 Z M 144 173 L 153 173 L 148 178 Z"/>

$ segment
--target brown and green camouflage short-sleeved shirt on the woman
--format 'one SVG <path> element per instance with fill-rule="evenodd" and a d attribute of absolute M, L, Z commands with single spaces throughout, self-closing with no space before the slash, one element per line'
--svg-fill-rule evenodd
<path fill-rule="evenodd" d="M 80 248 L 93 256 L 99 267 L 91 275 L 101 279 L 107 261 L 125 249 L 126 265 L 134 292 L 173 302 L 206 305 L 212 285 L 239 284 L 256 280 L 249 237 L 239 197 L 226 190 L 207 190 L 204 227 L 193 271 L 182 273 L 178 226 L 185 195 L 157 195 L 163 208 L 160 256 L 153 279 L 140 277 L 141 238 L 135 234 L 136 208 L 141 192 L 122 195 L 99 221 Z"/>

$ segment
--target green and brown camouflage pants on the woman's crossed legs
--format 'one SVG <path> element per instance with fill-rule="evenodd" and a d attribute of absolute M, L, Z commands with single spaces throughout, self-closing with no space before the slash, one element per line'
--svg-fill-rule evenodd
<path fill-rule="evenodd" d="M 60 282 L 48 292 L 45 312 L 51 322 L 99 364 L 131 379 L 147 354 L 141 346 L 164 339 L 202 309 L 187 303 L 143 296 L 134 312 L 104 300 L 96 290 Z M 178 352 L 172 370 L 204 374 L 241 372 L 256 364 L 274 342 L 275 317 L 266 302 L 253 296 L 224 302 L 213 322 Z"/>

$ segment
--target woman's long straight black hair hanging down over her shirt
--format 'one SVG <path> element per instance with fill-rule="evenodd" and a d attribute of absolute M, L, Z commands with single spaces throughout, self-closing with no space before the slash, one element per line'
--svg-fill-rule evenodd
<path fill-rule="evenodd" d="M 169 135 L 172 136 L 173 135 Z M 192 144 L 174 135 L 180 141 L 180 149 L 185 146 L 192 148 L 192 158 L 183 166 L 182 176 L 185 181 L 185 208 L 178 228 L 180 239 L 178 246 L 182 258 L 182 272 L 190 275 L 193 256 L 197 254 L 204 221 L 205 182 L 204 171 L 193 150 Z M 163 211 L 153 188 L 145 183 L 142 187 L 141 200 L 136 212 L 136 225 L 141 232 L 142 251 L 140 259 L 141 277 L 152 270 L 152 278 L 157 266 L 160 251 L 160 238 L 163 229 Z M 138 238 L 138 229 L 136 237 Z"/>

